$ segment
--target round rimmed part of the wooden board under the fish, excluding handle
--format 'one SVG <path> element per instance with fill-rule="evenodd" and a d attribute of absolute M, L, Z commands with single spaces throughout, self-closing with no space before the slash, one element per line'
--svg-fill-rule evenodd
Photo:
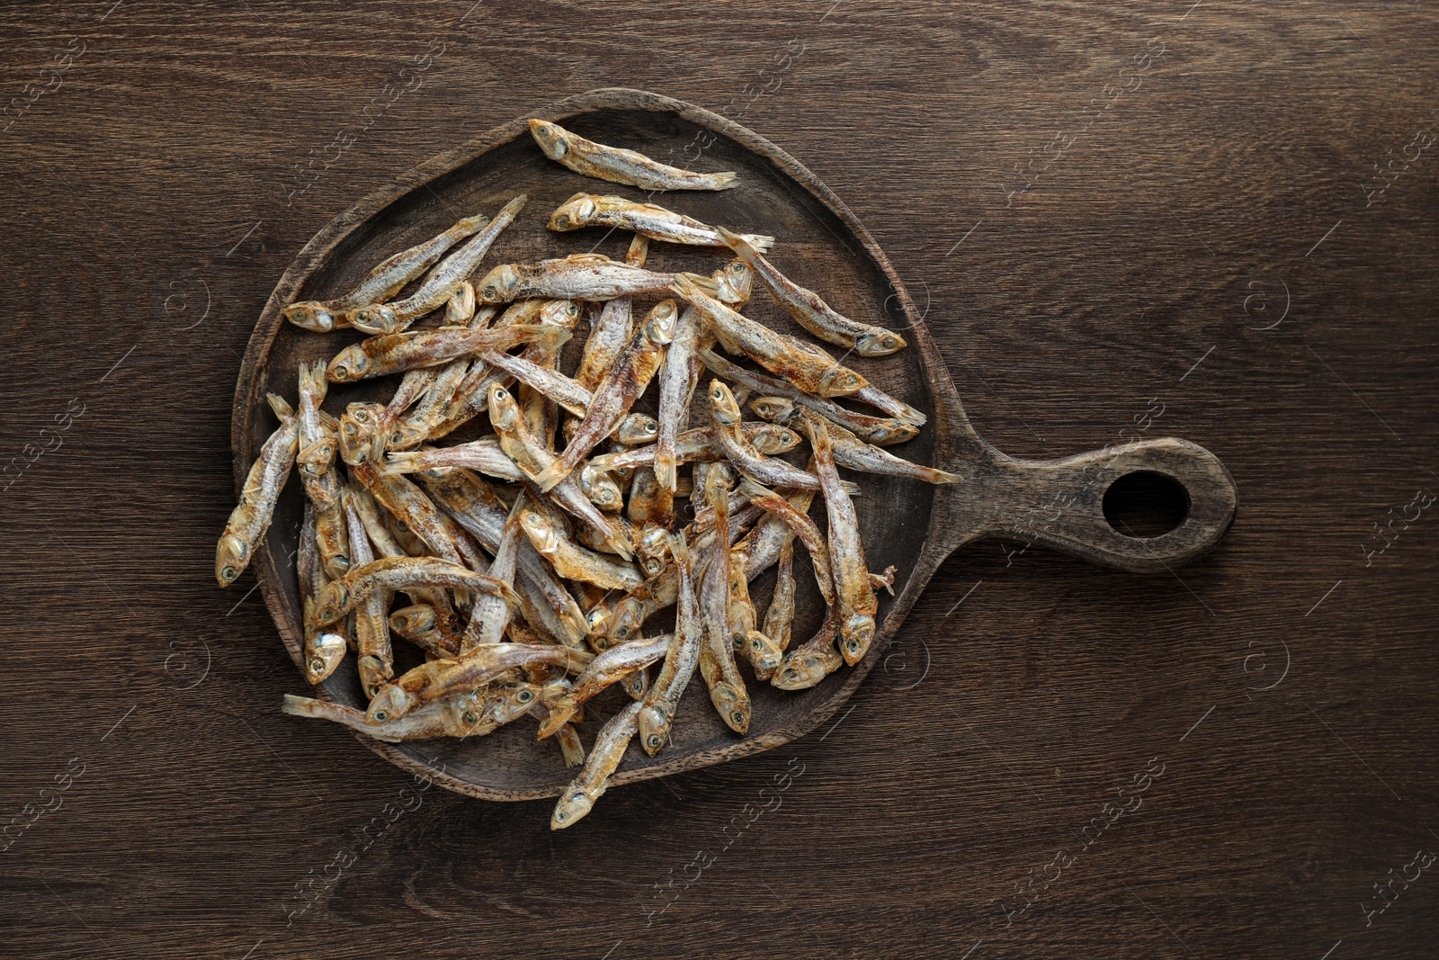
<path fill-rule="evenodd" d="M 948 399 L 941 406 L 953 404 L 955 419 L 963 419 L 934 344 L 884 253 L 845 206 L 791 157 L 715 114 L 640 91 L 591 91 L 538 115 L 584 137 L 639 150 L 675 166 L 737 171 L 737 189 L 669 193 L 658 196 L 656 201 L 707 223 L 773 235 L 776 263 L 797 282 L 820 291 L 846 315 L 882 318 L 878 322 L 905 331 L 911 344 L 908 350 L 884 358 L 850 356 L 845 358 L 848 366 L 930 415 L 935 412 L 938 387 Z M 260 443 L 275 429 L 265 393 L 276 391 L 294 399 L 299 363 L 328 360 L 360 338 L 354 331 L 312 334 L 286 324 L 281 311 L 288 304 L 338 295 L 384 256 L 433 236 L 462 216 L 476 212 L 494 214 L 517 193 L 528 194 L 530 201 L 519 219 L 495 242 L 478 275 L 498 263 L 591 249 L 622 258 L 629 243 L 626 232 L 587 229 L 553 233 L 544 229 L 554 207 L 577 191 L 643 199 L 639 190 L 581 177 L 550 161 L 530 137 L 525 118 L 518 118 L 417 167 L 393 187 L 335 217 L 281 278 L 250 338 L 235 397 L 236 482 L 243 479 Z M 649 266 L 708 273 L 727 259 L 728 255 L 721 250 L 655 243 Z M 642 298 L 636 311 L 658 299 Z M 747 314 L 777 330 L 810 338 L 761 289 L 755 291 Z M 563 368 L 573 370 L 584 334 L 581 325 L 566 351 Z M 396 383 L 396 377 L 384 377 L 360 384 L 334 384 L 325 409 L 340 412 L 355 400 L 387 399 Z M 646 404 L 652 404 L 653 393 L 652 389 L 636 409 L 652 410 Z M 702 391 L 698 393 L 702 396 Z M 455 439 L 469 436 L 456 433 Z M 944 446 L 941 432 L 931 425 L 914 440 L 891 449 L 920 463 L 938 463 L 950 459 Z M 861 486 L 855 502 L 869 567 L 878 571 L 892 564 L 896 569 L 899 597 L 881 596 L 881 629 L 868 656 L 853 669 L 840 668 L 803 692 L 783 692 L 753 681 L 748 668 L 743 666 L 754 704 L 750 731 L 744 737 L 720 721 L 704 684 L 695 682 L 676 714 L 672 746 L 656 757 L 648 757 L 637 744 L 632 744 L 612 784 L 721 763 L 794 740 L 829 717 L 869 672 L 947 548 L 932 541 L 927 547 L 937 495 L 934 486 L 869 474 L 846 474 L 846 478 Z M 298 479 L 292 476 L 263 550 L 256 557 L 266 604 L 296 662 L 301 619 L 294 556 L 302 501 Z M 822 515 L 822 508 L 820 502 L 816 515 Z M 763 574 L 751 584 L 761 615 L 773 576 L 773 571 Z M 796 643 L 813 633 L 820 619 L 819 597 L 807 570 L 797 570 L 797 576 Z M 656 617 L 653 623 L 662 620 Z M 296 678 L 296 685 L 299 682 Z M 288 691 L 276 691 L 276 695 L 279 692 Z M 318 695 L 363 708 L 354 658 L 347 658 Z M 599 724 L 623 702 L 620 697 L 620 691 L 607 691 L 587 708 L 587 718 L 580 724 L 580 734 L 587 743 Z M 535 743 L 532 721 L 462 741 L 384 744 L 364 735 L 360 738 L 387 760 L 478 797 L 522 800 L 555 796 L 573 777 L 554 744 Z"/>

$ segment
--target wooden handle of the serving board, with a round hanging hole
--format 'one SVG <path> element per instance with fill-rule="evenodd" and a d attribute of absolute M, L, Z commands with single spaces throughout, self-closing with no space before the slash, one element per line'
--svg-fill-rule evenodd
<path fill-rule="evenodd" d="M 1141 573 L 1187 563 L 1219 543 L 1235 520 L 1235 479 L 1217 456 L 1189 440 L 1163 438 L 1108 446 L 1055 461 L 999 453 L 983 472 L 994 512 L 984 534 L 1026 540 L 1092 563 Z M 1104 497 L 1131 474 L 1167 476 L 1189 498 L 1168 533 L 1134 537 L 1109 525 Z M 976 478 L 979 479 L 979 478 Z"/>

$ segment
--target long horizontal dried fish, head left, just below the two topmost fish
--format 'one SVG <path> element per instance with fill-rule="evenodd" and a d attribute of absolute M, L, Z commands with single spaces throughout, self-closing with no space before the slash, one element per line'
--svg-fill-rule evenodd
<path fill-rule="evenodd" d="M 603 253 L 571 253 L 537 263 L 505 263 L 479 282 L 476 291 L 486 304 L 507 304 L 522 296 L 564 296 L 570 299 L 613 299 L 635 294 L 658 294 L 671 286 L 679 273 L 656 273 L 629 263 L 619 263 Z M 692 276 L 701 292 L 718 294 L 708 276 Z"/>

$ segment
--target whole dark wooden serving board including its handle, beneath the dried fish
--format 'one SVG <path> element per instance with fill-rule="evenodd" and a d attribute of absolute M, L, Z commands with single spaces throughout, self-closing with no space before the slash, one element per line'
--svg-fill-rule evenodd
<path fill-rule="evenodd" d="M 907 350 L 879 358 L 850 356 L 845 363 L 930 416 L 918 438 L 888 448 L 891 452 L 964 476 L 960 484 L 931 486 L 846 472 L 848 479 L 861 486 L 855 502 L 869 567 L 878 571 L 892 564 L 898 571 L 896 596 L 881 596 L 881 629 L 868 656 L 858 666 L 840 668 L 803 692 L 750 682 L 753 720 L 744 737 L 720 721 L 704 684 L 691 684 L 675 718 L 673 744 L 656 757 L 648 757 L 632 744 L 612 784 L 734 760 L 814 728 L 863 681 L 940 563 L 976 538 L 1023 538 L 1095 563 L 1151 571 L 1197 557 L 1215 545 L 1233 521 L 1233 479 L 1217 458 L 1186 440 L 1145 440 L 1055 461 L 1017 461 L 986 443 L 970 426 L 934 341 L 885 255 L 825 184 L 767 140 L 691 104 L 632 89 L 591 91 L 535 115 L 673 166 L 738 171 L 741 186 L 734 190 L 671 193 L 656 201 L 707 223 L 773 235 L 773 259 L 789 276 L 819 291 L 846 315 L 878 318 L 876 322 L 904 332 L 909 341 Z M 642 197 L 642 191 L 586 178 L 550 161 L 531 140 L 525 118 L 517 118 L 412 170 L 315 235 L 281 278 L 245 354 L 232 433 L 236 486 L 275 427 L 265 393 L 273 390 L 294 399 L 299 363 L 328 360 L 361 337 L 354 331 L 312 334 L 298 330 L 281 317 L 288 304 L 337 295 L 387 255 L 433 236 L 460 216 L 494 214 L 517 193 L 530 196 L 528 206 L 499 236 L 479 273 L 496 263 L 564 256 L 591 248 L 620 259 L 629 243 L 625 232 L 551 233 L 544 229 L 554 207 L 581 190 Z M 708 273 L 727 259 L 724 250 L 655 243 L 649 265 Z M 636 311 L 649 302 L 639 301 Z M 810 338 L 763 289 L 755 289 L 745 312 L 777 330 Z M 566 370 L 573 370 L 584 332 L 581 327 L 568 345 L 563 361 Z M 355 400 L 387 399 L 396 381 L 384 377 L 332 384 L 325 407 L 338 412 Z M 873 412 L 862 404 L 852 406 Z M 646 407 L 642 403 L 636 409 Z M 453 439 L 469 436 L 462 432 Z M 1105 492 L 1131 474 L 1158 474 L 1177 482 L 1189 501 L 1183 522 L 1148 538 L 1125 535 L 1111 527 L 1102 510 Z M 292 478 L 255 560 L 265 602 L 296 664 L 301 616 L 294 554 L 302 502 L 298 478 Z M 822 515 L 819 511 L 816 515 Z M 761 612 L 773 577 L 770 571 L 751 584 Z M 797 579 L 802 592 L 796 643 L 817 628 L 822 613 L 807 573 L 797 571 Z M 663 619 L 656 617 L 653 629 L 646 632 L 659 632 L 662 623 Z M 302 687 L 296 674 L 292 689 L 275 692 L 276 701 L 282 692 L 299 692 Z M 589 717 L 580 727 L 586 743 L 623 702 L 620 691 L 607 694 L 587 708 Z M 353 656 L 322 684 L 318 695 L 364 708 Z M 469 796 L 495 800 L 555 796 L 573 777 L 555 746 L 535 743 L 534 721 L 519 721 L 489 737 L 463 741 L 386 744 L 360 738 L 391 763 Z"/>

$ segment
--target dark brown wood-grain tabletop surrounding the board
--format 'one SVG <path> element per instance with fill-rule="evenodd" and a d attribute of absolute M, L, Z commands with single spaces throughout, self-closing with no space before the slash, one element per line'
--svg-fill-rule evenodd
<path fill-rule="evenodd" d="M 0 23 L 0 956 L 1432 953 L 1426 4 Z M 1226 540 L 1158 574 L 970 545 L 837 725 L 619 787 L 563 833 L 547 802 L 420 792 L 282 715 L 304 685 L 253 579 L 210 570 L 265 298 L 355 199 L 612 85 L 833 189 L 997 448 L 1213 450 Z"/>

